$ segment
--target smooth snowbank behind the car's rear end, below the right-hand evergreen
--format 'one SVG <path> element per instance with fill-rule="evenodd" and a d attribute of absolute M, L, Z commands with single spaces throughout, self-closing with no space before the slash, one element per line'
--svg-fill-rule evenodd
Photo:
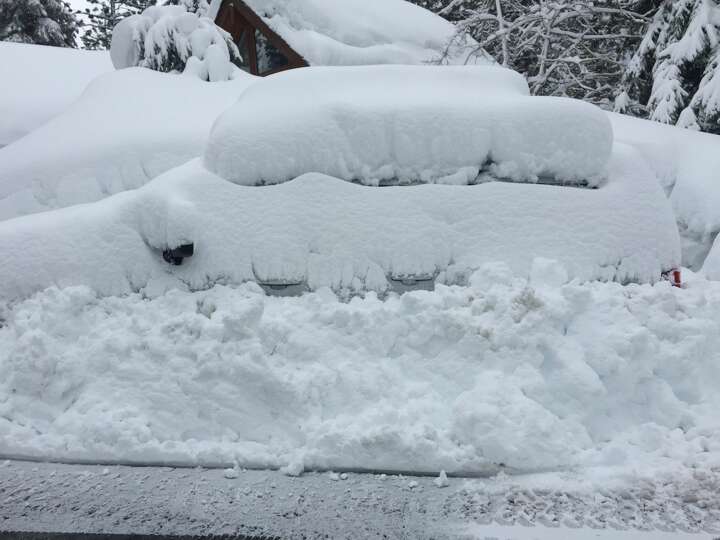
<path fill-rule="evenodd" d="M 699 270 L 720 231 L 720 136 L 621 114 L 609 118 L 615 140 L 637 149 L 655 171 L 675 211 L 683 264 Z"/>

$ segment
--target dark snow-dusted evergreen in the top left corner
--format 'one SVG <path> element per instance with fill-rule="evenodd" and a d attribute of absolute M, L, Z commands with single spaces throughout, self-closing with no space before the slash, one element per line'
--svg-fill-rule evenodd
<path fill-rule="evenodd" d="M 0 41 L 73 47 L 77 28 L 62 0 L 0 0 Z"/>

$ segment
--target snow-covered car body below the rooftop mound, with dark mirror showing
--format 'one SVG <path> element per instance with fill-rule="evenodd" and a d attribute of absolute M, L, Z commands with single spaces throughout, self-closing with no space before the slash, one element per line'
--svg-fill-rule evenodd
<path fill-rule="evenodd" d="M 201 84 L 201 83 L 198 83 Z M 654 281 L 679 264 L 673 215 L 642 160 L 617 147 L 595 190 L 488 182 L 360 186 L 320 174 L 238 186 L 200 160 L 139 190 L 0 223 L 0 298 L 51 285 L 101 294 L 258 281 L 343 294 L 394 281 L 464 283 L 482 264 Z M 161 252 L 193 243 L 182 266 Z"/>

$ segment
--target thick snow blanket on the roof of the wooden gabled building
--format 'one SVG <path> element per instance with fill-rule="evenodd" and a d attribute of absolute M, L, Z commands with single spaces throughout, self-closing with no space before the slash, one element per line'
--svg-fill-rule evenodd
<path fill-rule="evenodd" d="M 221 3 L 213 0 L 210 17 L 217 15 Z M 245 3 L 311 66 L 463 64 L 467 60 L 465 47 L 448 49 L 456 32 L 452 23 L 405 0 Z"/>

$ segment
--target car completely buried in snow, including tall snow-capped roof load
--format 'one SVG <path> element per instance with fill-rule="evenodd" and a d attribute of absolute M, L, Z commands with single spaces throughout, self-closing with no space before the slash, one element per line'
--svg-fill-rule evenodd
<path fill-rule="evenodd" d="M 495 261 L 527 273 L 537 257 L 567 279 L 652 282 L 680 263 L 670 204 L 635 151 L 613 144 L 607 116 L 531 97 L 499 67 L 268 77 L 220 115 L 203 158 L 2 222 L 0 243 L 3 297 L 245 281 L 383 293 L 461 284 Z"/>

